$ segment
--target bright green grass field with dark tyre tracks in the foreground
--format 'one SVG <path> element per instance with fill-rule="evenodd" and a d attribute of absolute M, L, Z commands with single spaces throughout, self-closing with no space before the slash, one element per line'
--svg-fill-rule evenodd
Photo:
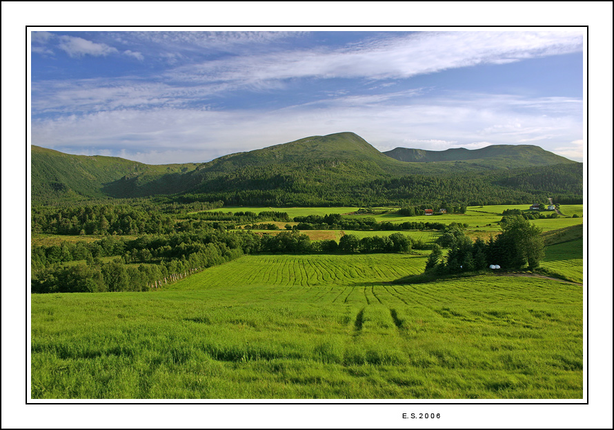
<path fill-rule="evenodd" d="M 425 260 L 252 255 L 163 291 L 32 295 L 32 398 L 582 398 L 582 286 L 388 283 Z"/>

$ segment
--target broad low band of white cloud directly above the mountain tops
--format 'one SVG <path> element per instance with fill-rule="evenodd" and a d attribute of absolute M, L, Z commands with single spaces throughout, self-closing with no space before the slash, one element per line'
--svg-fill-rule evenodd
<path fill-rule="evenodd" d="M 115 155 L 126 150 L 138 157 L 137 161 L 157 160 L 156 164 L 161 164 L 169 162 L 168 151 L 175 148 L 181 148 L 181 157 L 185 156 L 173 157 L 177 162 L 204 162 L 228 153 L 341 131 L 353 131 L 382 151 L 397 146 L 475 149 L 531 139 L 532 144 L 561 155 L 569 150 L 562 142 L 582 136 L 581 118 L 521 114 L 500 100 L 497 103 L 497 98 L 491 96 L 486 106 L 482 95 L 462 104 L 457 99 L 430 99 L 428 104 L 305 105 L 273 111 L 122 108 L 34 121 L 32 143 L 111 148 Z M 493 110 L 492 106 L 499 107 Z M 493 125 L 493 121 L 498 123 Z"/>

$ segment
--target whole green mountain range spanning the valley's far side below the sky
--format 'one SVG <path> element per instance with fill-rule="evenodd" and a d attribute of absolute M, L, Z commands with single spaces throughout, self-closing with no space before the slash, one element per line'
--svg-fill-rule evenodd
<path fill-rule="evenodd" d="M 492 197 L 497 202 L 504 195 L 582 198 L 582 163 L 531 145 L 382 153 L 355 133 L 335 133 L 168 165 L 31 148 L 32 204 L 161 196 L 267 206 L 469 202 L 479 193 L 499 196 Z"/>

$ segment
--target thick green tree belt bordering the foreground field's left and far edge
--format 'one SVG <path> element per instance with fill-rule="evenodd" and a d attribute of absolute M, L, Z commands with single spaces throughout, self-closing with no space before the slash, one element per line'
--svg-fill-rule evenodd
<path fill-rule="evenodd" d="M 32 249 L 33 293 L 148 291 L 241 255 L 257 253 L 408 252 L 414 242 L 402 233 L 357 240 L 354 235 L 311 241 L 299 231 L 260 235 L 250 231 L 197 231 L 150 235 L 136 240 L 105 237 L 92 244 Z M 117 256 L 103 263 L 100 257 Z M 82 257 L 85 257 L 84 259 Z M 60 262 L 79 258 L 83 264 Z"/>

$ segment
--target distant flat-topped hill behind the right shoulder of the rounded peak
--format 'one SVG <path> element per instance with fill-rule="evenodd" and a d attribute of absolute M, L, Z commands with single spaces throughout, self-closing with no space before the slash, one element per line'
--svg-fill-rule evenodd
<path fill-rule="evenodd" d="M 497 165 L 506 162 L 508 167 L 526 167 L 526 165 L 517 165 L 526 163 L 533 166 L 573 163 L 565 157 L 555 155 L 534 145 L 491 145 L 480 149 L 450 148 L 442 151 L 395 148 L 384 152 L 384 154 L 409 163 L 491 160 L 496 162 Z"/>

